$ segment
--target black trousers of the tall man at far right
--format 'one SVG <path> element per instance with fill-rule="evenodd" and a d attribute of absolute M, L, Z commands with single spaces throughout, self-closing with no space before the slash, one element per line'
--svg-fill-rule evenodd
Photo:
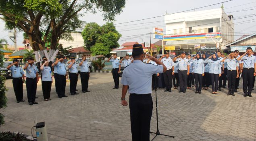
<path fill-rule="evenodd" d="M 252 84 L 253 84 L 253 73 L 254 68 L 244 68 L 243 71 L 243 90 L 245 94 L 251 94 L 252 93 Z M 247 91 L 248 86 L 248 91 Z"/>

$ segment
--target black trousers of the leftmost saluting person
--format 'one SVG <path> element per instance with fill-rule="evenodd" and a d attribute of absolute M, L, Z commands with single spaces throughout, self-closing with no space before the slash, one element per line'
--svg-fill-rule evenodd
<path fill-rule="evenodd" d="M 23 100 L 23 80 L 22 78 L 12 78 L 12 85 L 17 102 Z"/>

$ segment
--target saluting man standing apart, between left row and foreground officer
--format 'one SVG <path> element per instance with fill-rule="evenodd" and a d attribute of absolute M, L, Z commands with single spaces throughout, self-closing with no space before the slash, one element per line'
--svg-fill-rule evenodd
<path fill-rule="evenodd" d="M 113 89 L 119 89 L 119 73 L 121 70 L 121 64 L 119 59 L 117 59 L 117 54 L 113 54 L 110 58 L 108 58 L 108 62 L 112 62 L 112 76 L 114 79 L 114 87 Z"/>

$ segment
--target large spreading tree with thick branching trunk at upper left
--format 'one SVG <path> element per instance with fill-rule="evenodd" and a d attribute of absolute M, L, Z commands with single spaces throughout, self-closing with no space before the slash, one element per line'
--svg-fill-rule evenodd
<path fill-rule="evenodd" d="M 69 40 L 71 31 L 81 28 L 84 13 L 103 12 L 104 20 L 113 21 L 122 12 L 125 0 L 0 0 L 0 19 L 8 29 L 17 28 L 29 37 L 35 58 L 38 54 L 53 61 L 61 48 L 58 41 Z M 50 39 L 50 50 L 46 42 Z"/>

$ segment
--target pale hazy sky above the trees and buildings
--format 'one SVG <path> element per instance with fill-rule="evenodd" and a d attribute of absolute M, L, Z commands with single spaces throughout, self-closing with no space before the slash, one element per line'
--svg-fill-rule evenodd
<path fill-rule="evenodd" d="M 120 15 L 117 15 L 116 21 L 114 21 L 114 25 L 116 26 L 117 31 L 122 34 L 122 37 L 119 39 L 119 44 L 122 45 L 123 43 L 130 41 L 149 43 L 149 33 L 153 32 L 154 27 L 160 27 L 165 30 L 163 15 L 166 13 L 172 14 L 185 10 L 190 10 L 188 12 L 192 12 L 221 8 L 222 2 L 224 6 L 224 11 L 227 13 L 227 15 L 233 15 L 234 17 L 233 23 L 235 30 L 235 39 L 238 39 L 245 34 L 250 35 L 256 33 L 256 0 L 231 0 L 229 2 L 225 1 L 229 0 L 127 0 L 125 8 L 123 8 L 123 12 L 121 12 Z M 216 5 L 208 6 L 211 4 Z M 203 6 L 207 7 L 199 8 Z M 248 15 L 250 15 L 251 17 L 249 17 Z M 85 21 L 86 23 L 96 22 L 99 25 L 103 25 L 107 22 L 103 21 L 101 12 L 97 12 L 97 14 L 87 13 L 80 19 Z M 0 20 L 0 39 L 7 39 L 8 44 L 14 45 L 14 43 L 8 38 L 8 31 L 6 31 L 4 25 L 4 21 Z M 77 31 L 81 31 L 81 29 L 77 29 Z M 17 34 L 18 46 L 23 46 L 22 34 L 23 32 L 19 32 Z M 141 36 L 142 34 L 145 35 Z M 158 41 L 158 39 L 152 38 L 151 42 L 154 43 L 156 41 Z"/>

